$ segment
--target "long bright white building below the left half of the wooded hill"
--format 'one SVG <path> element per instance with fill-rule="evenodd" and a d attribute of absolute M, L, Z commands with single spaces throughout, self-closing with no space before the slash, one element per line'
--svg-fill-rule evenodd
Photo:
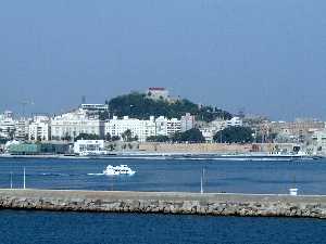
<path fill-rule="evenodd" d="M 137 137 L 138 141 L 143 142 L 148 137 L 155 136 L 154 117 L 150 117 L 148 120 L 140 120 L 128 116 L 118 119 L 114 116 L 113 119 L 105 123 L 105 134 L 109 133 L 111 137 L 122 137 L 126 130 L 130 130 L 133 138 Z"/>

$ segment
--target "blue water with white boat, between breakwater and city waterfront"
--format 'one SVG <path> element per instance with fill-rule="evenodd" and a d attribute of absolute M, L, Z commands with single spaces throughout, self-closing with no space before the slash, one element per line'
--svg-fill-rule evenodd
<path fill-rule="evenodd" d="M 136 175 L 108 177 L 106 165 L 127 164 Z M 326 194 L 326 160 L 231 162 L 191 159 L 0 159 L 0 188 L 199 192 L 202 167 L 205 192 Z"/>

